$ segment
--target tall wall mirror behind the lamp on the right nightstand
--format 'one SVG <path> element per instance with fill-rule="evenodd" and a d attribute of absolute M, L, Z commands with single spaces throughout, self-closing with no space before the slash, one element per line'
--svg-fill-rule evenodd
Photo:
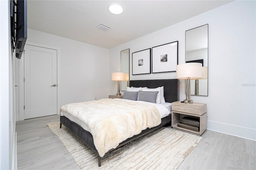
<path fill-rule="evenodd" d="M 186 31 L 186 63 L 203 65 L 203 77 L 191 80 L 191 95 L 208 96 L 208 24 Z"/>

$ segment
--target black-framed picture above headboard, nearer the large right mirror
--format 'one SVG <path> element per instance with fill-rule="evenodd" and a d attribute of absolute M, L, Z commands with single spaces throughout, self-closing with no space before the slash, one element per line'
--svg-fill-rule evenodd
<path fill-rule="evenodd" d="M 178 44 L 176 41 L 152 47 L 152 73 L 176 71 Z"/>

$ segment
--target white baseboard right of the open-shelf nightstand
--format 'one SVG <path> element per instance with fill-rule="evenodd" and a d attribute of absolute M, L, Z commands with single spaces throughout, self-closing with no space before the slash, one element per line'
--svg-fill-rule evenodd
<path fill-rule="evenodd" d="M 256 129 L 252 128 L 239 127 L 214 121 L 207 121 L 207 129 L 256 141 Z"/>

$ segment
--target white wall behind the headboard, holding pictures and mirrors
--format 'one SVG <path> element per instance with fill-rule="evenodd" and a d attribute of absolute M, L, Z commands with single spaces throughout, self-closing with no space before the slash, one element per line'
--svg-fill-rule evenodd
<path fill-rule="evenodd" d="M 120 71 L 120 51 L 132 53 L 179 41 L 179 63 L 185 63 L 185 31 L 209 24 L 208 97 L 192 96 L 207 103 L 207 129 L 256 140 L 256 12 L 255 1 L 234 1 L 163 30 L 110 49 L 110 73 Z M 131 75 L 130 79 L 174 79 L 175 72 Z M 185 81 L 180 80 L 180 100 Z M 110 81 L 110 93 L 116 85 Z"/>

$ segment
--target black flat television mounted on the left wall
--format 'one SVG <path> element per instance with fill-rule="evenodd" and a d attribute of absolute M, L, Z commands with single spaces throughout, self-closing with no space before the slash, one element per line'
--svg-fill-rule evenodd
<path fill-rule="evenodd" d="M 27 36 L 27 0 L 17 0 L 16 3 L 15 1 L 13 1 L 13 5 L 16 6 L 16 17 L 14 13 L 11 14 L 11 32 L 13 30 L 12 20 L 16 19 L 16 22 L 15 22 L 16 35 L 15 37 L 13 37 L 13 40 L 15 40 L 16 58 L 20 59 L 26 40 L 28 38 Z M 12 5 L 11 5 L 11 8 L 12 8 Z M 13 12 L 14 12 L 14 9 L 15 8 L 13 8 Z M 11 9 L 11 12 L 12 12 L 12 9 Z"/>

